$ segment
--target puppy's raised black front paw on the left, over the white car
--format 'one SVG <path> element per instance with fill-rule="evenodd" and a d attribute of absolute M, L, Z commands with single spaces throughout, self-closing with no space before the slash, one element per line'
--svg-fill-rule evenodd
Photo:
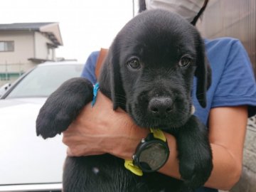
<path fill-rule="evenodd" d="M 46 100 L 36 119 L 36 134 L 43 139 L 65 131 L 78 113 L 92 100 L 92 83 L 85 78 L 72 78 Z"/>

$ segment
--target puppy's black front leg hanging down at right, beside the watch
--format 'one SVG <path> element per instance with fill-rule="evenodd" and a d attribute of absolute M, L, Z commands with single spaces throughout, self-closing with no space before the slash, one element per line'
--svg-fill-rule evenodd
<path fill-rule="evenodd" d="M 179 133 L 179 171 L 190 188 L 203 186 L 213 169 L 212 151 L 206 127 L 192 117 Z"/>

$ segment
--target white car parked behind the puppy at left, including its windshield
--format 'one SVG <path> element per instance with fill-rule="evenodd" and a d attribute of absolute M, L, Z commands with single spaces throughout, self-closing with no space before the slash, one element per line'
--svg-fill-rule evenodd
<path fill-rule="evenodd" d="M 0 191 L 61 191 L 66 146 L 59 135 L 37 137 L 36 117 L 50 93 L 82 68 L 76 62 L 38 65 L 2 95 Z"/>

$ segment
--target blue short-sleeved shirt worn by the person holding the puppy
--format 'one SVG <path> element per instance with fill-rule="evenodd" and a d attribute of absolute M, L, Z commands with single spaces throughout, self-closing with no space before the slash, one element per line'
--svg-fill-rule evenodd
<path fill-rule="evenodd" d="M 207 106 L 202 108 L 196 99 L 196 78 L 193 83 L 193 105 L 195 115 L 204 124 L 208 123 L 210 109 L 247 105 L 249 116 L 256 113 L 256 83 L 250 58 L 242 43 L 235 38 L 205 40 L 206 55 L 212 69 L 212 84 L 207 92 Z M 92 52 L 85 63 L 82 77 L 93 84 L 95 64 L 99 51 Z M 196 192 L 217 192 L 212 188 L 199 188 Z"/>

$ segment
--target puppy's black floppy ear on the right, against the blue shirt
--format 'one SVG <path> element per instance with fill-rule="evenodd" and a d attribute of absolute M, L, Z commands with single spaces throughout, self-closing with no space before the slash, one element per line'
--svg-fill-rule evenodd
<path fill-rule="evenodd" d="M 198 102 L 202 107 L 206 107 L 206 91 L 210 87 L 211 83 L 211 69 L 206 58 L 204 43 L 201 37 L 198 37 L 198 45 L 196 47 L 197 54 L 197 68 L 196 68 L 196 78 L 197 78 L 197 89 L 196 97 Z"/>

